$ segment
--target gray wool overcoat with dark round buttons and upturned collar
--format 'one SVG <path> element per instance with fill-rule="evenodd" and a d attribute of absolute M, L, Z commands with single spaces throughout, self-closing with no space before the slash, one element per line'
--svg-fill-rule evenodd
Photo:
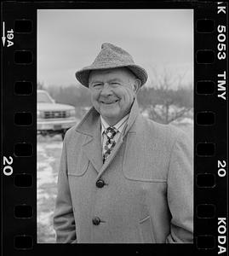
<path fill-rule="evenodd" d="M 66 133 L 54 211 L 60 243 L 192 243 L 192 140 L 144 118 L 135 101 L 102 163 L 94 108 Z M 105 185 L 95 184 L 102 179 Z M 94 224 L 94 218 L 97 221 Z"/>

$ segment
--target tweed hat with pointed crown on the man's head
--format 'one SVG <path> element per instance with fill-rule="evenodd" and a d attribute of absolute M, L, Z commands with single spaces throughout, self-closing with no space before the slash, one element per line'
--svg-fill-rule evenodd
<path fill-rule="evenodd" d="M 83 67 L 76 73 L 77 80 L 86 87 L 89 87 L 89 73 L 93 70 L 103 70 L 108 68 L 127 67 L 135 76 L 140 79 L 141 86 L 146 83 L 148 75 L 143 67 L 135 64 L 133 58 L 127 51 L 116 45 L 104 43 L 101 46 L 99 55 L 94 62 Z"/>

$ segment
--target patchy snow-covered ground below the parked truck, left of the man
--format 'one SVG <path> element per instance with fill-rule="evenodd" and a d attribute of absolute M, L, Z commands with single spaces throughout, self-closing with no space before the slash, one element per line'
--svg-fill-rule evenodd
<path fill-rule="evenodd" d="M 54 201 L 62 140 L 60 136 L 37 137 L 37 242 L 55 242 Z"/>

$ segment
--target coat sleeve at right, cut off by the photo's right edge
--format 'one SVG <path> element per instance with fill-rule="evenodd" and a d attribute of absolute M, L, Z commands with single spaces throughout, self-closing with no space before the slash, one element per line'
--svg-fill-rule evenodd
<path fill-rule="evenodd" d="M 175 141 L 168 173 L 170 234 L 166 243 L 193 242 L 193 148 L 182 131 Z"/>

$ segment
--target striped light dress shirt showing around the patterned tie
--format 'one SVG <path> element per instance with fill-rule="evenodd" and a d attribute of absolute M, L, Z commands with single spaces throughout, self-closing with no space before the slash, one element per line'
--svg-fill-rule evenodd
<path fill-rule="evenodd" d="M 113 137 L 115 143 L 117 143 L 118 138 L 120 137 L 123 128 L 125 127 L 127 120 L 129 119 L 129 113 L 127 115 L 125 115 L 123 117 L 123 119 L 121 119 L 116 125 L 112 125 L 112 127 L 115 127 L 117 129 L 117 133 L 115 135 L 115 137 Z M 100 120 L 101 120 L 101 143 L 102 143 L 102 154 L 105 153 L 105 145 L 107 142 L 107 137 L 105 135 L 105 130 L 106 128 L 110 127 L 111 125 L 108 125 L 106 123 L 106 120 L 102 118 L 102 116 L 100 115 Z"/>

